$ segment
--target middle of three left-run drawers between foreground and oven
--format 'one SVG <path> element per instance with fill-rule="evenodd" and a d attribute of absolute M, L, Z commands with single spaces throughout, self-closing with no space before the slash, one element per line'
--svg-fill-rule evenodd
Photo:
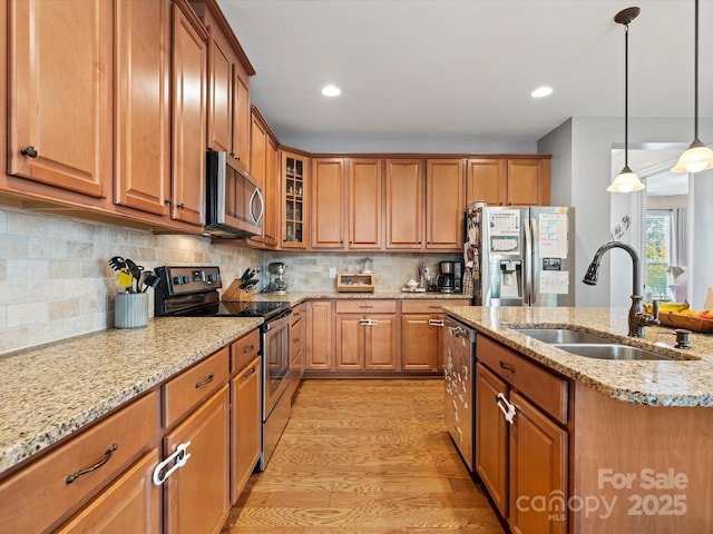
<path fill-rule="evenodd" d="M 228 379 L 228 348 L 197 363 L 164 385 L 164 427 L 180 419 L 192 407 Z"/>

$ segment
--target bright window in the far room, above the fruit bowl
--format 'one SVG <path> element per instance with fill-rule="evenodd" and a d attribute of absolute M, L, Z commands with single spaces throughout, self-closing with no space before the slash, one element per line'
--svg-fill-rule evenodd
<path fill-rule="evenodd" d="M 646 211 L 646 294 L 652 298 L 682 300 L 673 278 L 685 258 L 685 240 L 680 235 L 683 222 L 682 208 Z"/>

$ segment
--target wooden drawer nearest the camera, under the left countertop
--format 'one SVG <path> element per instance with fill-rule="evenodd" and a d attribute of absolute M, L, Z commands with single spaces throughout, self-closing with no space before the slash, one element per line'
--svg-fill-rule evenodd
<path fill-rule="evenodd" d="M 0 532 L 43 532 L 114 479 L 157 428 L 158 393 L 152 392 L 3 481 Z M 92 466 L 97 467 L 79 474 Z M 78 476 L 68 483 L 71 474 Z"/>

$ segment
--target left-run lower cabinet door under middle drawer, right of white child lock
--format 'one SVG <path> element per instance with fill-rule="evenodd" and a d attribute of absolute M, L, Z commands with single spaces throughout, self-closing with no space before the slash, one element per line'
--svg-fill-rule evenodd
<path fill-rule="evenodd" d="M 164 483 L 167 533 L 218 533 L 231 510 L 228 386 L 164 438 L 164 456 L 191 443 L 186 464 Z"/>

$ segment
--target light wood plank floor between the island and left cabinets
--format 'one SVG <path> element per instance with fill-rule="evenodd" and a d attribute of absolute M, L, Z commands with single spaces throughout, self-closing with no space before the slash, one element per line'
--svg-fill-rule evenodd
<path fill-rule="evenodd" d="M 443 426 L 439 379 L 305 380 L 223 534 L 502 534 Z"/>

